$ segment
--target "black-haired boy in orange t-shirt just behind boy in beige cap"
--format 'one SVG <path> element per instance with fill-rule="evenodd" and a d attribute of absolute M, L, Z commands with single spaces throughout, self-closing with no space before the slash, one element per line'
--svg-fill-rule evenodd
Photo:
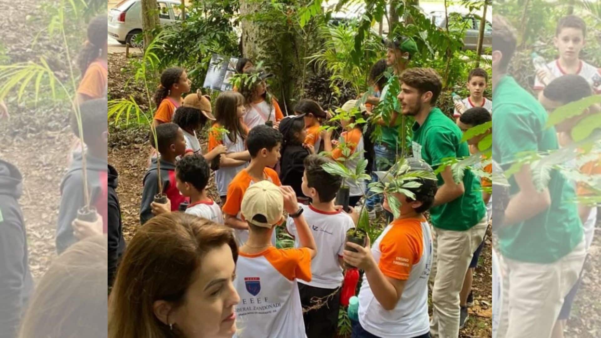
<path fill-rule="evenodd" d="M 260 124 L 248 132 L 246 148 L 251 155 L 251 162 L 231 180 L 222 208 L 225 214 L 225 225 L 236 229 L 238 245 L 244 244 L 248 239 L 248 224 L 239 215 L 242 197 L 246 189 L 253 183 L 262 180 L 269 180 L 275 185 L 281 185 L 278 173 L 271 168 L 279 161 L 281 146 L 282 134 L 270 126 Z M 275 242 L 275 232 L 273 240 Z"/>

